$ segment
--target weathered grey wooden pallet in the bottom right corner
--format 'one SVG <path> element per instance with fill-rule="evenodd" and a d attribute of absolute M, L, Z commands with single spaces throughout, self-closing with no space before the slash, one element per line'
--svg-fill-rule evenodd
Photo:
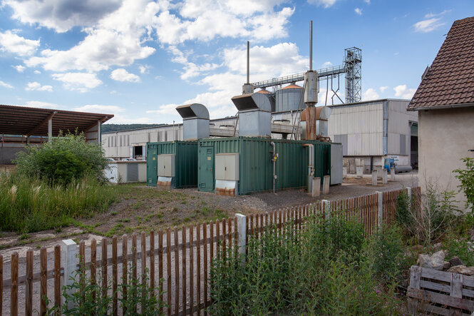
<path fill-rule="evenodd" d="M 408 312 L 411 315 L 465 315 L 474 312 L 474 277 L 413 265 Z"/>

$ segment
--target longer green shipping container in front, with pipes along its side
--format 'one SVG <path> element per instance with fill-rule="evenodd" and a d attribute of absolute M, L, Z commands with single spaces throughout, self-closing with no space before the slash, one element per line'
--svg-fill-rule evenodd
<path fill-rule="evenodd" d="M 305 188 L 307 186 L 309 147 L 314 145 L 314 177 L 331 173 L 331 143 L 321 141 L 289 141 L 269 138 L 205 138 L 199 140 L 198 190 L 215 190 L 215 155 L 239 153 L 238 194 L 244 195 L 273 189 L 273 146 L 278 158 L 275 162 L 275 190 Z"/>

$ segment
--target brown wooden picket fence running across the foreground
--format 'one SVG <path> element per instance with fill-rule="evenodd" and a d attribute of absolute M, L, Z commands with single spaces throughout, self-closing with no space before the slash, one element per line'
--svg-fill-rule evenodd
<path fill-rule="evenodd" d="M 411 190 L 412 200 L 419 199 L 419 188 Z M 245 240 L 248 240 L 249 235 L 259 238 L 263 229 L 269 225 L 275 225 L 281 231 L 284 225 L 290 222 L 295 229 L 301 229 L 304 219 L 309 215 L 316 214 L 325 218 L 334 213 L 345 215 L 348 219 L 360 218 L 363 220 L 366 235 L 371 235 L 381 224 L 391 225 L 394 222 L 396 200 L 402 191 L 374 193 L 344 200 L 322 200 L 308 205 L 252 214 L 245 220 Z M 91 282 L 101 285 L 102 293 L 97 295 L 112 295 L 112 315 L 122 312 L 117 290 L 118 287 L 126 285 L 130 266 L 133 279 L 140 278 L 148 268 L 150 287 L 156 288 L 157 293 L 159 291 L 160 300 L 167 305 L 163 308 L 163 314 L 207 315 L 206 307 L 211 304 L 207 281 L 212 258 L 215 258 L 221 247 L 225 250 L 237 242 L 237 230 L 236 217 L 182 226 L 180 230 L 177 227 L 168 228 L 159 230 L 158 234 L 152 231 L 148 236 L 145 233 L 134 233 L 130 238 L 131 243 L 128 235 L 123 235 L 120 241 L 116 236 L 111 239 L 103 238 L 100 241 L 101 251 L 97 249 L 97 240 L 91 240 L 88 252 L 86 243 L 81 241 L 78 253 L 73 257 L 73 270 L 85 271 Z M 77 247 L 73 248 L 77 251 Z M 28 250 L 25 274 L 19 275 L 19 255 L 14 253 L 11 255 L 7 275 L 4 270 L 4 258 L 0 255 L 0 316 L 15 316 L 19 312 L 32 315 L 34 311 L 45 315 L 51 305 L 61 305 L 62 287 L 71 282 L 71 271 L 66 271 L 66 265 L 70 266 L 71 263 L 64 263 L 68 255 L 61 255 L 61 245 L 56 245 L 49 257 L 48 260 L 46 248 L 41 248 L 39 269 L 35 270 L 34 250 Z M 51 267 L 48 267 L 48 261 Z M 142 282 L 144 281 L 143 279 Z M 108 291 L 110 285 L 111 290 Z M 81 284 L 81 287 L 83 286 Z M 23 287 L 24 290 L 20 290 Z M 19 293 L 22 297 L 19 297 Z M 123 293 L 126 295 L 125 291 Z M 47 306 L 42 297 L 48 297 L 51 304 Z M 4 301 L 9 301 L 9 306 L 4 305 Z M 24 302 L 20 309 L 19 302 Z M 34 306 L 33 302 L 39 306 Z"/>

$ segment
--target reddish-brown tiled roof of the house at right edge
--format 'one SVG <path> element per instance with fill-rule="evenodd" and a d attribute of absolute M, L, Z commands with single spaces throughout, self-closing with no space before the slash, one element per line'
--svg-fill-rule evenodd
<path fill-rule="evenodd" d="M 474 17 L 453 23 L 408 109 L 474 103 Z"/>

